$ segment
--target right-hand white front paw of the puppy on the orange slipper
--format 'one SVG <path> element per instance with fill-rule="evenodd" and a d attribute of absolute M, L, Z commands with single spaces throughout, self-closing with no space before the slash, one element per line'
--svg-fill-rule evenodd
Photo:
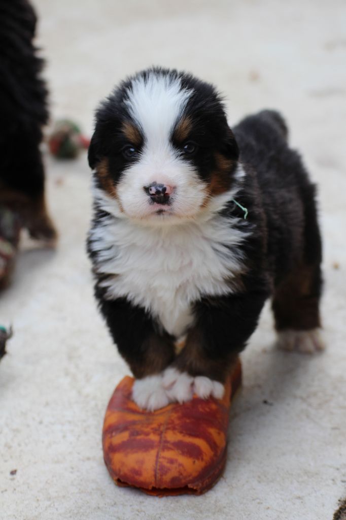
<path fill-rule="evenodd" d="M 224 386 L 218 381 L 213 381 L 204 375 L 193 378 L 186 372 L 179 372 L 175 368 L 165 370 L 163 386 L 170 401 L 189 401 L 193 394 L 202 399 L 208 399 L 208 397 L 221 399 L 224 394 Z"/>

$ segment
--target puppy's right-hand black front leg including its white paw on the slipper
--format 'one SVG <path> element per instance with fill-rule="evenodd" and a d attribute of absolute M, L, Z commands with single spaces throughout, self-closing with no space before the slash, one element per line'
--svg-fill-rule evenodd
<path fill-rule="evenodd" d="M 222 398 L 224 382 L 254 332 L 267 291 L 204 298 L 185 347 L 166 369 L 163 386 L 171 400 Z"/>

